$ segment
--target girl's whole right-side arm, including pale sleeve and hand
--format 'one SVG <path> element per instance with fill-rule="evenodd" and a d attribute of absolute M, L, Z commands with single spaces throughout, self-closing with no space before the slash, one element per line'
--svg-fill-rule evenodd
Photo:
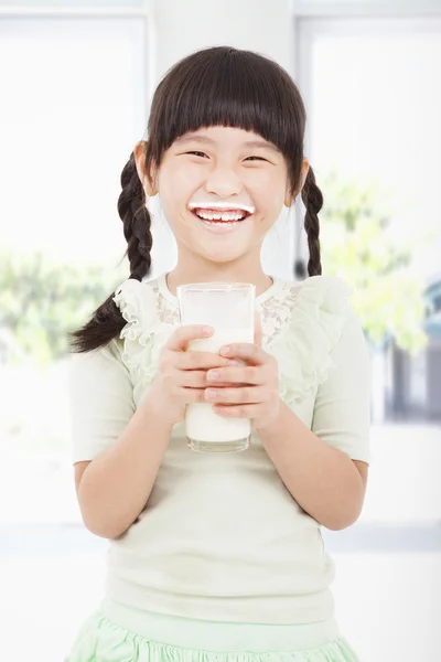
<path fill-rule="evenodd" d="M 370 426 L 369 357 L 355 312 L 334 350 L 326 381 L 318 386 L 311 429 L 281 402 L 277 362 L 260 343 L 229 349 L 228 356 L 249 365 L 216 371 L 217 377 L 248 386 L 217 389 L 218 397 L 212 398 L 216 410 L 254 420 L 286 487 L 320 524 L 331 530 L 353 524 L 365 498 Z"/>

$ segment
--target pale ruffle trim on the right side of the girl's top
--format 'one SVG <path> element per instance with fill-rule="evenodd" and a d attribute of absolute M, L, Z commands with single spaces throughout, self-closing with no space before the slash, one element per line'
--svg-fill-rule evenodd
<path fill-rule="evenodd" d="M 288 405 L 313 395 L 326 381 L 334 366 L 332 352 L 352 312 L 351 292 L 336 276 L 311 276 L 299 288 L 290 319 L 271 346 L 280 395 Z"/>

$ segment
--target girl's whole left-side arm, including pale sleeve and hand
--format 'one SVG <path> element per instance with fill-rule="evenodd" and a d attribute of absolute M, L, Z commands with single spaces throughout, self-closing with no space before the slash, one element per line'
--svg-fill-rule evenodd
<path fill-rule="evenodd" d="M 146 506 L 175 423 L 201 402 L 206 371 L 229 364 L 207 352 L 184 351 L 212 335 L 181 327 L 161 350 L 155 378 L 138 409 L 121 350 L 112 341 L 76 355 L 69 375 L 77 499 L 86 527 L 119 537 Z"/>

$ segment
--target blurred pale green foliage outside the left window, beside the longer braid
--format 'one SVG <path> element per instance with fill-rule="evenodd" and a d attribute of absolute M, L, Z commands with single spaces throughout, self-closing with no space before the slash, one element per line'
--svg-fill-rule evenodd
<path fill-rule="evenodd" d="M 127 266 L 112 270 L 98 265 L 56 264 L 42 253 L 0 253 L 0 343 L 12 339 L 17 352 L 44 366 L 69 351 L 69 331 L 77 330 L 128 277 Z"/>

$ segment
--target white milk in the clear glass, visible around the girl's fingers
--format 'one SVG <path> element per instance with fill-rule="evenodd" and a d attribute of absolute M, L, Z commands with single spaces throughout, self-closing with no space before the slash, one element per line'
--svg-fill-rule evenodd
<path fill-rule="evenodd" d="M 189 350 L 218 353 L 223 345 L 233 342 L 254 342 L 252 329 L 220 329 L 209 338 L 192 340 Z M 232 356 L 234 359 L 234 356 Z M 216 383 L 213 382 L 213 388 Z M 236 441 L 251 434 L 248 418 L 227 418 L 213 412 L 211 403 L 187 405 L 185 414 L 186 436 L 196 441 Z"/>

